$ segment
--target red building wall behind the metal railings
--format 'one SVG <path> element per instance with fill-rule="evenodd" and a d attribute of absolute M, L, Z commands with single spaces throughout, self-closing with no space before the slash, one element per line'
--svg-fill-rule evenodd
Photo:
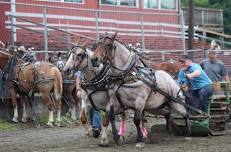
<path fill-rule="evenodd" d="M 175 48 L 173 49 L 182 48 L 180 46 L 181 38 L 177 10 L 142 9 L 141 1 L 139 1 L 138 8 L 99 5 L 98 2 L 98 0 L 84 0 L 84 4 L 78 4 L 40 0 L 16 0 L 16 3 L 20 5 L 16 5 L 16 14 L 14 15 L 27 18 L 33 22 L 43 23 L 43 6 L 46 5 L 48 26 L 96 38 L 96 10 L 98 10 L 100 35 L 104 35 L 105 32 L 112 33 L 118 31 L 121 40 L 125 39 L 128 43 L 133 43 L 134 40 L 137 40 L 136 42 L 141 43 L 142 16 L 140 14 L 144 13 L 143 28 L 146 48 L 172 48 L 172 45 L 166 45 L 166 42 L 163 39 L 166 39 L 167 41 L 171 41 L 172 39 L 174 42 L 177 41 L 177 44 L 179 45 L 175 45 Z M 43 39 L 42 33 L 44 31 L 42 26 L 35 26 L 20 19 L 17 19 L 17 24 L 40 31 L 39 34 L 34 34 L 34 32 L 25 29 L 17 29 L 18 41 L 30 43 L 30 41 L 33 40 L 34 44 L 35 42 L 43 42 L 43 40 L 41 40 Z M 49 32 L 52 33 L 52 31 Z M 52 34 L 54 33 L 59 35 L 59 37 L 61 35 L 63 39 L 66 39 L 64 33 L 53 32 Z M 130 38 L 129 40 L 128 37 Z M 55 43 L 52 43 L 52 45 L 53 44 Z M 41 44 L 41 47 L 43 47 L 43 45 L 44 44 Z M 61 45 L 61 42 L 57 45 Z"/>

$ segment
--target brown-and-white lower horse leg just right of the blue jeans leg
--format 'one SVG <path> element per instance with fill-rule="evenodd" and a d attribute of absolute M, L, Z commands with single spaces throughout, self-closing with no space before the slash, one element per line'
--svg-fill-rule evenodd
<path fill-rule="evenodd" d="M 110 112 L 110 111 L 109 111 Z M 103 129 L 102 129 L 102 136 L 100 140 L 99 146 L 109 146 L 109 140 L 107 136 L 107 128 L 109 125 L 109 112 L 107 111 L 103 117 Z"/>

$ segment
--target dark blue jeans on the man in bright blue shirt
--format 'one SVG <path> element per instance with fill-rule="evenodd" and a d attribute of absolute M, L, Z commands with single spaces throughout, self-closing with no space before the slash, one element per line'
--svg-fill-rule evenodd
<path fill-rule="evenodd" d="M 203 112 L 208 112 L 209 97 L 213 95 L 213 86 L 207 85 L 198 90 L 192 90 L 192 94 L 199 98 L 198 108 Z"/>

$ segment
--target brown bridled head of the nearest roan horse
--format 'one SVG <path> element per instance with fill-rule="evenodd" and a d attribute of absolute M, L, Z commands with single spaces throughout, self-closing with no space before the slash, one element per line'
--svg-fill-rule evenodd
<path fill-rule="evenodd" d="M 91 58 L 93 66 L 99 66 L 99 61 L 111 61 L 114 57 L 115 45 L 114 41 L 116 38 L 117 32 L 111 37 L 106 36 L 98 43 L 94 54 Z"/>

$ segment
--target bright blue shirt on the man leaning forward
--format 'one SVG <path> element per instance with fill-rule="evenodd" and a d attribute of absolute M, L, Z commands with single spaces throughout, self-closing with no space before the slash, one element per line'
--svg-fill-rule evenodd
<path fill-rule="evenodd" d="M 201 72 L 200 76 L 187 80 L 186 74 L 193 73 L 196 70 L 200 70 Z M 198 64 L 192 63 L 188 69 L 180 70 L 179 75 L 178 75 L 178 83 L 181 85 L 184 83 L 187 83 L 189 84 L 191 90 L 198 90 L 207 85 L 211 85 L 212 81 L 210 80 L 210 78 L 207 76 L 207 74 L 202 70 L 202 68 Z"/>

